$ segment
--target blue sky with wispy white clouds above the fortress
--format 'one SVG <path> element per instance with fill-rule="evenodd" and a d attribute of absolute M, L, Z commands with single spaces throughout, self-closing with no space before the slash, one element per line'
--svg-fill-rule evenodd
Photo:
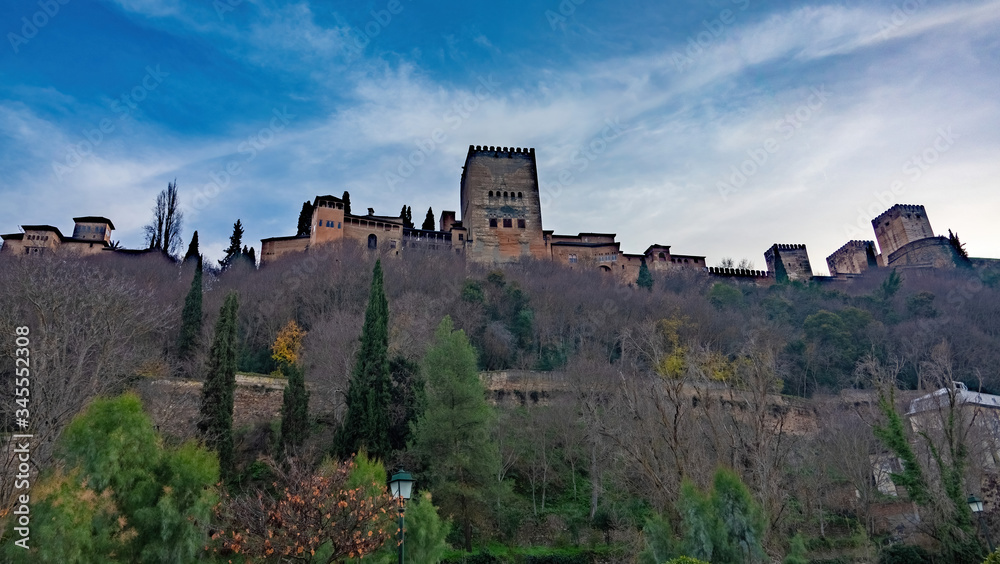
<path fill-rule="evenodd" d="M 543 224 L 816 272 L 894 203 L 1000 257 L 1000 1 L 13 0 L 0 232 L 294 233 L 302 202 L 458 208 L 470 144 L 534 147 Z"/>

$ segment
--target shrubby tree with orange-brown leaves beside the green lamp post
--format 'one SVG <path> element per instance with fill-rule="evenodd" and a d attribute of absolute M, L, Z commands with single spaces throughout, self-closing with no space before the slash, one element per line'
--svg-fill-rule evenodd
<path fill-rule="evenodd" d="M 353 462 L 332 462 L 314 473 L 295 460 L 288 470 L 272 462 L 277 497 L 258 491 L 225 500 L 217 550 L 327 564 L 378 550 L 395 531 L 386 516 L 396 502 L 384 481 L 352 487 L 354 468 Z"/>

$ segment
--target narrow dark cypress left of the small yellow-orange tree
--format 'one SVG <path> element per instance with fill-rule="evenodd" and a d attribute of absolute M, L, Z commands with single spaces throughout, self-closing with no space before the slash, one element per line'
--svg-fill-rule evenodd
<path fill-rule="evenodd" d="M 202 388 L 201 417 L 198 430 L 205 442 L 219 454 L 219 471 L 230 478 L 234 471 L 233 401 L 236 392 L 236 355 L 238 349 L 236 318 L 239 313 L 236 292 L 226 296 L 208 360 L 208 374 Z"/>

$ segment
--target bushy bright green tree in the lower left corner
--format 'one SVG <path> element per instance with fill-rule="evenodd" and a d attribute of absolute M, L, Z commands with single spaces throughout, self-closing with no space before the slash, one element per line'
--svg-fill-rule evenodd
<path fill-rule="evenodd" d="M 218 462 L 164 447 L 134 394 L 99 399 L 60 439 L 61 469 L 32 490 L 26 562 L 192 562 L 208 540 Z"/>

